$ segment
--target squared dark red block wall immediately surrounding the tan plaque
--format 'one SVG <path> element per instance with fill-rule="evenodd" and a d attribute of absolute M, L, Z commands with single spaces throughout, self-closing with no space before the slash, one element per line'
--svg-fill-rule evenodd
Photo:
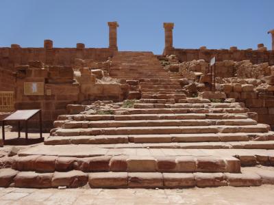
<path fill-rule="evenodd" d="M 70 66 L 44 67 L 39 61 L 28 64 L 30 65 L 17 68 L 14 107 L 42 109 L 43 128 L 51 128 L 53 120 L 66 113 L 66 105 L 78 102 L 79 84 L 74 83 L 73 69 Z M 26 94 L 27 82 L 42 83 L 42 93 Z M 35 128 L 37 120 L 38 118 L 32 120 L 29 127 Z"/>

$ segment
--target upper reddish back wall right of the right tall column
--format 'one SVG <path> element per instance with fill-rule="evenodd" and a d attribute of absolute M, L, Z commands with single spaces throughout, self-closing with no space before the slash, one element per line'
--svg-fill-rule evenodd
<path fill-rule="evenodd" d="M 251 49 L 172 49 L 169 51 L 169 55 L 176 55 L 181 62 L 192 61 L 194 59 L 204 59 L 205 61 L 209 62 L 212 57 L 217 55 L 216 61 L 243 61 L 249 59 L 252 64 L 262 64 L 264 62 L 269 62 L 269 65 L 274 65 L 274 51 L 253 51 Z"/>

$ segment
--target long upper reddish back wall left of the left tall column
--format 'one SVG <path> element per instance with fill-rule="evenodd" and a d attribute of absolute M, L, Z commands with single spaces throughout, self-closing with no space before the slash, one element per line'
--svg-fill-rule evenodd
<path fill-rule="evenodd" d="M 76 58 L 106 61 L 112 57 L 114 49 L 44 49 L 44 48 L 0 48 L 0 67 L 14 70 L 28 61 L 42 61 L 46 65 L 72 66 Z"/>

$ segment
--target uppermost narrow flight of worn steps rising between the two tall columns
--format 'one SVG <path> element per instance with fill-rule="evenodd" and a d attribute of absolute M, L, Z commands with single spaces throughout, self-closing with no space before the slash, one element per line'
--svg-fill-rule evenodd
<path fill-rule="evenodd" d="M 152 52 L 117 51 L 112 57 L 110 77 L 116 79 L 169 79 Z"/>

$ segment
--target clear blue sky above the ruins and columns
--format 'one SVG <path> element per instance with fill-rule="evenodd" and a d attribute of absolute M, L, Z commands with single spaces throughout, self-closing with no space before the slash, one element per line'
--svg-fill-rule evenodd
<path fill-rule="evenodd" d="M 175 23 L 175 48 L 271 49 L 274 0 L 0 0 L 0 46 L 107 47 L 114 20 L 120 51 L 162 53 L 163 22 Z"/>

